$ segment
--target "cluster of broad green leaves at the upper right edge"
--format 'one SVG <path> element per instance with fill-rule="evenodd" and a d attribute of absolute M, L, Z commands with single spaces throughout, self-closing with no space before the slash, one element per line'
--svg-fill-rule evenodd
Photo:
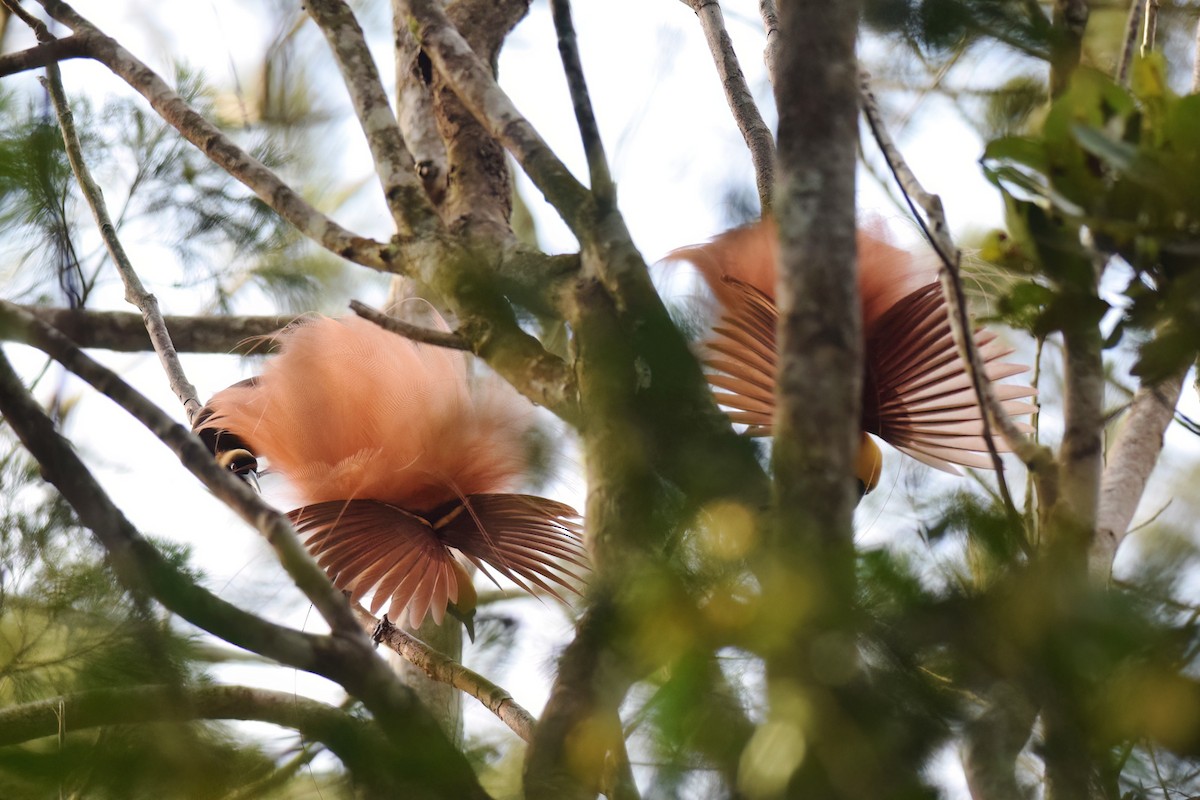
<path fill-rule="evenodd" d="M 1139 332 L 1134 374 L 1151 380 L 1193 363 L 1200 345 L 1200 97 L 1176 96 L 1164 71 L 1158 56 L 1138 61 L 1129 90 L 1080 71 L 1039 134 L 997 139 L 984 155 L 1012 247 L 1049 278 L 1015 287 L 1006 319 L 1038 335 L 1080 320 L 1073 288 L 1094 270 L 1092 248 L 1120 257 L 1133 277 L 1109 344 Z"/>

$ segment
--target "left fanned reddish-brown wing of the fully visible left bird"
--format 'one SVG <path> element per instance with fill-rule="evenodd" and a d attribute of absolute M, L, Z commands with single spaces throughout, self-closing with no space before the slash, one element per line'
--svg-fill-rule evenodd
<path fill-rule="evenodd" d="M 442 624 L 458 599 L 454 555 L 427 519 L 378 500 L 334 500 L 288 512 L 317 564 L 358 602 L 373 593 L 371 613 L 416 627 L 426 613 Z M 390 601 L 390 602 L 389 602 Z"/>

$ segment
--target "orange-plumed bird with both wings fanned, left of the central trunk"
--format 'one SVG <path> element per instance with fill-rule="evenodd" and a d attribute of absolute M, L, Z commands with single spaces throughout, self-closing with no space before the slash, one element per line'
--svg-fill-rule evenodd
<path fill-rule="evenodd" d="M 258 456 L 299 492 L 317 563 L 371 612 L 414 627 L 449 610 L 474 634 L 463 561 L 562 600 L 587 569 L 578 513 L 515 494 L 532 407 L 464 354 L 359 318 L 299 321 L 262 375 L 217 392 L 194 428 L 228 469 Z M 490 576 L 491 577 L 491 576 Z"/>

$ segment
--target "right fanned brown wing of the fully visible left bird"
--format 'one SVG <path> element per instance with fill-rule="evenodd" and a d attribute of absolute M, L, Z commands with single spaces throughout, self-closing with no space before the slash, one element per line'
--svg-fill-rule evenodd
<path fill-rule="evenodd" d="M 588 569 L 580 515 L 529 494 L 472 494 L 430 515 L 442 541 L 475 566 L 491 566 L 526 591 L 529 584 L 563 600 L 551 584 L 577 593 Z"/>

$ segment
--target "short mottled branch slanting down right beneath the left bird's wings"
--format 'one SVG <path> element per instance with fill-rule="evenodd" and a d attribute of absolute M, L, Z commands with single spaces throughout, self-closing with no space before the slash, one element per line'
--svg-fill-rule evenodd
<path fill-rule="evenodd" d="M 379 620 L 362 606 L 354 604 L 353 609 L 362 630 L 371 633 L 372 639 L 386 644 L 428 675 L 431 680 L 454 686 L 474 697 L 500 722 L 509 726 L 512 733 L 524 741 L 533 741 L 533 732 L 538 727 L 538 720 L 512 699 L 512 696 L 503 687 L 497 686 L 479 673 L 467 669 L 454 658 L 442 655 L 412 633 L 395 626 L 386 614 Z"/>

